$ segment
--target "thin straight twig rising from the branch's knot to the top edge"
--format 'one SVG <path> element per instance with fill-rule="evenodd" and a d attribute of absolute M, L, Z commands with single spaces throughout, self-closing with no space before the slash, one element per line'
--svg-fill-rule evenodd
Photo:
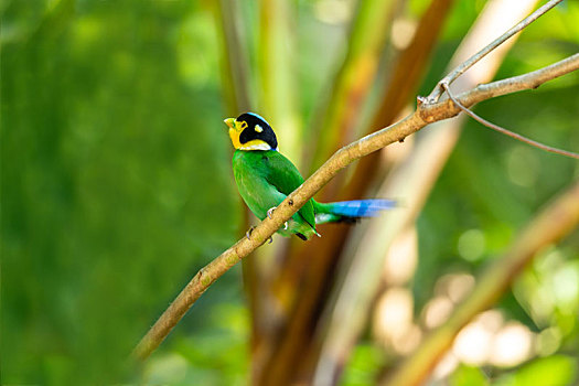
<path fill-rule="evenodd" d="M 550 10 L 553 7 L 557 6 L 562 0 L 550 0 L 545 6 L 537 9 L 535 12 L 523 19 L 521 22 L 518 22 L 515 26 L 513 26 L 511 30 L 503 33 L 501 36 L 495 39 L 491 44 L 486 45 L 484 49 L 472 55 L 468 61 L 462 62 L 457 68 L 452 69 L 447 76 L 444 76 L 435 87 L 432 93 L 428 96 L 429 103 L 435 103 L 440 99 L 440 96 L 443 92 L 442 85 L 450 85 L 452 82 L 454 82 L 459 76 L 461 76 L 467 69 L 472 67 L 476 62 L 482 60 L 484 56 L 486 56 L 491 51 L 496 49 L 498 45 L 503 44 L 506 40 L 512 37 L 514 34 L 526 28 L 528 24 L 533 23 L 535 20 L 537 20 L 539 17 L 542 17 L 545 12 Z"/>

